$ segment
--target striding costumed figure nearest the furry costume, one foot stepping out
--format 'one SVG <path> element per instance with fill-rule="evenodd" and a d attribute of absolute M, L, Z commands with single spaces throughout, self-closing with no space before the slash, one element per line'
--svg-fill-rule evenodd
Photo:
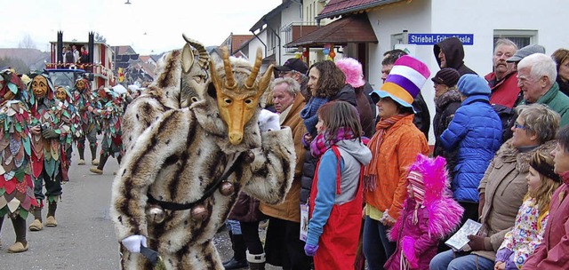
<path fill-rule="evenodd" d="M 120 164 L 124 155 L 123 131 L 121 130 L 123 104 L 120 96 L 107 87 L 101 86 L 96 96 L 97 107 L 100 108 L 94 109 L 92 113 L 99 118 L 103 139 L 100 146 L 99 165 L 92 167 L 89 171 L 102 174 L 109 156 L 114 156 Z"/>

